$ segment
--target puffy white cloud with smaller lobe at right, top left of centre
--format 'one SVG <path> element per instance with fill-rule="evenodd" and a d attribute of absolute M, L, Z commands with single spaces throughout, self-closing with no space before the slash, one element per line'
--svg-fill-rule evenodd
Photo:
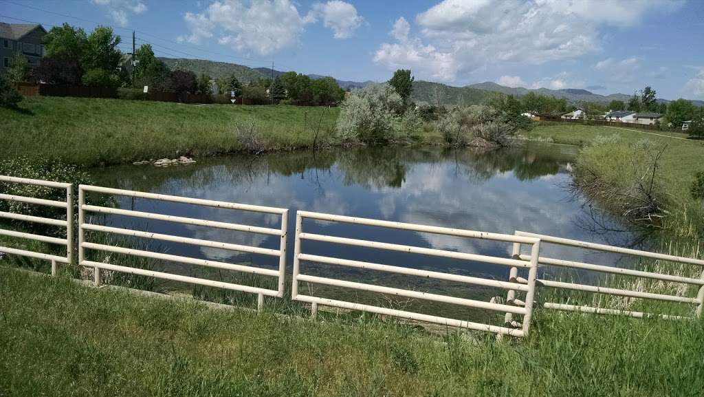
<path fill-rule="evenodd" d="M 202 13 L 184 14 L 189 33 L 178 40 L 197 44 L 217 37 L 237 51 L 269 55 L 298 44 L 306 25 L 318 18 L 339 39 L 350 37 L 363 20 L 354 6 L 339 0 L 315 4 L 306 16 L 290 0 L 220 0 Z"/>

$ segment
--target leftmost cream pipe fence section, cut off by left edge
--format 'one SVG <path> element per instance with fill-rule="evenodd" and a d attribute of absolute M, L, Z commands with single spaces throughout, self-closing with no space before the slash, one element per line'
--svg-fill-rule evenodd
<path fill-rule="evenodd" d="M 61 245 L 65 247 L 66 255 L 62 256 L 48 254 L 45 252 L 36 252 L 30 250 L 23 250 L 20 248 L 0 246 L 0 252 L 4 252 L 8 255 L 19 255 L 23 257 L 31 257 L 34 259 L 44 259 L 51 262 L 51 274 L 56 275 L 56 272 L 58 270 L 58 264 L 70 264 L 73 262 L 73 185 L 70 183 L 42 181 L 39 179 L 29 178 L 17 178 L 14 176 L 4 175 L 0 175 L 0 183 L 34 185 L 43 188 L 58 189 L 65 191 L 65 193 L 62 194 L 62 196 L 65 197 L 65 201 L 46 200 L 37 197 L 8 195 L 6 193 L 0 193 L 0 200 L 2 201 L 22 202 L 25 204 L 63 209 L 65 211 L 66 219 L 45 218 L 44 216 L 34 216 L 18 214 L 15 212 L 0 211 L 0 219 L 10 219 L 11 221 L 23 221 L 32 224 L 58 226 L 61 227 L 63 231 L 65 231 L 65 238 L 58 238 L 0 228 L 0 236 L 20 238 L 24 240 L 34 240 L 42 243 Z"/>

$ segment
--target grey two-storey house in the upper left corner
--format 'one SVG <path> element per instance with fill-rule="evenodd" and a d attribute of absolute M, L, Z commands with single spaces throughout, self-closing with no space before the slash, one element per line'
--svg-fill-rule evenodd
<path fill-rule="evenodd" d="M 44 56 L 44 35 L 42 25 L 0 22 L 0 74 L 5 73 L 16 52 L 26 56 L 32 68 L 39 66 Z"/>

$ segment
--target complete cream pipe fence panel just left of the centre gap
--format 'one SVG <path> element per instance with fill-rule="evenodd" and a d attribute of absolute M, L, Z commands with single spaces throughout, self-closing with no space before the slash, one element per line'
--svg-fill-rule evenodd
<path fill-rule="evenodd" d="M 263 214 L 274 214 L 280 216 L 280 228 L 263 228 L 259 226 L 249 226 L 241 224 L 233 224 L 229 222 L 222 221 L 209 221 L 206 219 L 196 219 L 196 218 L 186 218 L 183 216 L 172 216 L 165 214 L 153 214 L 151 212 L 139 212 L 127 209 L 117 209 L 111 207 L 100 207 L 96 205 L 86 204 L 85 196 L 86 193 L 99 193 L 102 195 L 117 195 L 125 197 L 137 197 L 147 200 L 158 200 L 165 202 L 176 202 L 182 204 L 194 204 L 201 207 L 214 207 L 219 209 L 234 209 L 244 212 L 259 212 Z M 275 207 L 262 207 L 258 205 L 250 204 L 237 204 L 233 202 L 222 202 L 214 200 L 203 200 L 188 197 L 179 197 L 171 195 L 161 195 L 156 193 L 144 193 L 136 192 L 133 190 L 122 190 L 114 188 L 101 188 L 98 186 L 80 185 L 78 188 L 78 202 L 79 202 L 79 213 L 78 213 L 78 223 L 79 223 L 79 233 L 78 233 L 78 257 L 79 262 L 84 267 L 91 267 L 94 269 L 94 283 L 99 285 L 101 283 L 101 270 L 108 271 L 119 271 L 128 274 L 137 274 L 141 276 L 151 276 L 157 279 L 165 279 L 170 281 L 180 281 L 184 283 L 192 283 L 201 286 L 212 286 L 216 288 L 225 288 L 233 291 L 242 291 L 246 293 L 256 293 L 258 295 L 258 307 L 263 305 L 263 296 L 275 296 L 282 298 L 284 295 L 284 274 L 286 270 L 286 242 L 287 242 L 287 226 L 288 226 L 288 209 L 275 208 Z M 121 216 L 131 216 L 141 219 L 151 219 L 156 221 L 167 221 L 177 224 L 189 224 L 195 226 L 205 226 L 210 228 L 220 228 L 232 231 L 241 231 L 246 233 L 261 233 L 268 236 L 279 236 L 280 243 L 279 249 L 274 250 L 270 248 L 260 248 L 250 245 L 240 245 L 225 243 L 220 241 L 203 240 L 199 238 L 187 238 L 182 236 L 172 236 L 170 234 L 163 233 L 152 233 L 147 231 L 135 231 L 127 228 L 115 228 L 111 226 L 102 226 L 98 224 L 91 224 L 86 221 L 86 214 L 99 213 L 99 214 L 115 214 Z M 120 235 L 120 236 L 132 236 L 136 238 L 146 238 L 149 240 L 161 240 L 169 241 L 172 243 L 183 243 L 188 245 L 197 245 L 200 247 L 208 248 L 218 248 L 222 250 L 230 250 L 235 252 L 249 252 L 254 254 L 269 255 L 274 257 L 279 257 L 279 268 L 274 269 L 263 269 L 260 267 L 247 266 L 243 264 L 230 264 L 225 262 L 218 262 L 208 259 L 197 259 L 193 257 L 184 257 L 180 255 L 170 255 L 160 252 L 151 252 L 146 250 L 135 250 L 132 248 L 118 247 L 114 245 L 106 245 L 99 243 L 90 243 L 86 241 L 86 231 L 94 231 L 107 233 L 108 235 Z M 214 269 L 225 269 L 231 271 L 239 271 L 242 273 L 258 274 L 262 276 L 272 276 L 277 278 L 277 289 L 270 290 L 268 288 L 259 288 L 252 286 L 245 286 L 237 283 L 225 283 L 222 281 L 213 281 L 208 279 L 201 279 L 198 277 L 182 276 L 179 274 L 169 274 L 163 271 L 152 271 L 146 269 L 136 269 L 132 267 L 120 266 L 117 264 L 94 262 L 86 259 L 85 250 L 99 250 L 103 252 L 113 252 L 123 255 L 132 255 L 137 257 L 145 257 L 151 259 L 159 259 L 168 262 L 177 262 L 182 264 L 192 264 L 200 267 L 210 267 Z"/>

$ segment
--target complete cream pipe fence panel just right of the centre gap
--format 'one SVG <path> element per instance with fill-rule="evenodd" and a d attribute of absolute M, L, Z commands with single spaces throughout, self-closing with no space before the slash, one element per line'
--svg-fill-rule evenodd
<path fill-rule="evenodd" d="M 358 224 L 366 226 L 377 226 L 382 228 L 391 228 L 396 230 L 416 231 L 422 233 L 435 233 L 446 236 L 458 236 L 465 238 L 478 238 L 485 240 L 503 241 L 506 243 L 524 243 L 532 245 L 534 248 L 535 259 L 525 262 L 519 259 L 509 259 L 502 257 L 491 257 L 487 255 L 469 254 L 464 252 L 454 252 L 448 250 L 438 250 L 433 248 L 421 248 L 411 245 L 399 245 L 391 243 L 380 243 L 370 240 L 358 240 L 354 238 L 342 238 L 335 236 L 326 236 L 321 234 L 306 233 L 303 231 L 303 219 L 313 219 L 315 221 L 332 221 L 345 224 Z M 322 241 L 327 243 L 335 243 L 341 245 L 353 245 L 356 247 L 375 248 L 378 250 L 390 250 L 397 252 L 409 252 L 420 255 L 430 255 L 434 257 L 448 257 L 453 259 L 463 259 L 475 262 L 484 262 L 489 264 L 498 264 L 511 267 L 527 267 L 529 269 L 529 282 L 521 284 L 517 282 L 505 282 L 492 279 L 482 279 L 479 277 L 459 276 L 456 274 L 442 273 L 439 271 L 427 271 L 413 269 L 409 267 L 398 267 L 387 264 L 377 264 L 372 262 L 362 262 L 351 259 L 341 259 L 337 257 L 325 257 L 321 255 L 309 255 L 302 252 L 301 242 L 303 240 Z M 301 302 L 310 303 L 312 314 L 318 310 L 318 305 L 326 305 L 332 307 L 340 307 L 348 310 L 361 310 L 364 312 L 372 312 L 384 314 L 393 317 L 401 317 L 423 322 L 432 322 L 447 326 L 456 326 L 466 329 L 474 329 L 477 331 L 489 331 L 495 334 L 511 336 L 524 336 L 529 331 L 530 317 L 532 316 L 532 300 L 535 290 L 535 276 L 537 269 L 537 255 L 539 252 L 540 240 L 537 238 L 511 236 L 497 233 L 483 233 L 479 231 L 467 231 L 457 228 L 442 228 L 438 226 L 424 226 L 417 224 L 403 224 L 400 222 L 380 221 L 376 219 L 356 218 L 351 216 L 341 216 L 332 214 L 320 214 L 317 212 L 298 211 L 296 213 L 296 240 L 294 245 L 294 270 L 291 286 L 291 298 Z M 437 279 L 444 281 L 456 281 L 460 283 L 468 283 L 479 286 L 491 286 L 503 288 L 513 291 L 522 291 L 527 294 L 527 304 L 518 307 L 515 305 L 503 305 L 499 303 L 483 302 L 479 300 L 456 298 L 447 295 L 439 295 L 434 293 L 425 293 L 420 291 L 410 291 L 402 288 L 391 288 L 387 286 L 377 286 L 368 283 L 357 283 L 352 281 L 344 281 L 339 279 L 330 279 L 327 277 L 310 276 L 301 274 L 301 261 L 315 262 L 318 264 L 331 264 L 342 267 L 354 267 L 357 269 L 369 269 L 376 271 L 386 271 L 395 274 L 406 274 L 410 276 L 419 276 L 427 279 Z M 421 300 L 432 300 L 441 303 L 450 303 L 454 305 L 463 305 L 466 307 L 476 307 L 485 310 L 494 310 L 498 312 L 509 312 L 511 314 L 521 314 L 523 316 L 523 324 L 520 329 L 510 328 L 508 326 L 495 326 L 491 324 L 483 324 L 479 322 L 469 322 L 460 319 L 451 319 L 447 317 L 439 317 L 417 312 L 408 312 L 403 310 L 395 310 L 387 307 L 379 307 L 375 305 L 363 305 L 343 300 L 334 300 L 329 298 L 320 298 L 313 295 L 303 295 L 299 293 L 300 283 L 315 283 L 326 286 L 336 286 L 341 288 L 350 288 L 356 291 L 369 291 L 373 293 L 383 293 L 387 295 L 396 295 L 406 298 L 415 298 Z"/>

